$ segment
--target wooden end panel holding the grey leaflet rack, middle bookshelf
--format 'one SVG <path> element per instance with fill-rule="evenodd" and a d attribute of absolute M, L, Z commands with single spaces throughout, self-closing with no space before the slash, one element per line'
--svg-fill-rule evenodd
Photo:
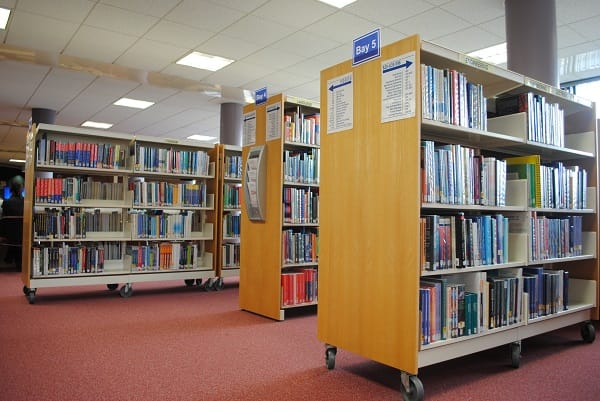
<path fill-rule="evenodd" d="M 267 105 L 278 102 L 283 103 L 283 95 L 270 97 Z M 267 193 L 265 221 L 253 221 L 248 218 L 248 214 L 245 213 L 245 199 L 242 196 L 240 308 L 279 320 L 281 318 L 283 145 L 281 137 L 266 141 L 266 105 L 248 105 L 244 108 L 244 113 L 252 110 L 256 110 L 256 145 L 265 143 L 267 145 Z M 244 185 L 246 160 L 252 146 L 244 146 L 242 149 Z"/>

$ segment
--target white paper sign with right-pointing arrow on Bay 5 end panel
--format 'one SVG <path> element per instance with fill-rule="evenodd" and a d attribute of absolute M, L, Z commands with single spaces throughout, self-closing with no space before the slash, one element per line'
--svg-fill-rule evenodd
<path fill-rule="evenodd" d="M 415 52 L 381 62 L 381 122 L 415 116 Z"/>

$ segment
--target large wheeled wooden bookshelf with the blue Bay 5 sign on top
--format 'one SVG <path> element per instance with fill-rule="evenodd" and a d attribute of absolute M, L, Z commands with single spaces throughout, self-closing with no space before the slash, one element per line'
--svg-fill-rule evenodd
<path fill-rule="evenodd" d="M 386 65 L 406 65 L 406 60 L 414 70 L 385 75 L 391 71 Z M 450 90 L 443 103 L 444 90 L 434 89 L 430 80 L 435 73 L 421 65 L 441 70 L 438 82 L 444 81 L 444 69 L 464 74 L 456 79 L 465 80 L 461 88 L 474 91 L 467 98 L 470 109 L 461 109 L 465 99 L 460 97 L 452 103 Z M 347 77 L 350 95 L 331 90 L 332 82 Z M 402 95 L 394 96 L 390 88 L 402 88 Z M 563 144 L 534 140 L 522 113 L 485 118 L 486 109 L 493 114 L 501 97 L 529 92 L 564 110 Z M 441 100 L 432 100 L 436 93 Z M 338 126 L 344 116 L 340 99 L 354 112 L 349 124 Z M 390 99 L 402 108 L 388 108 Z M 323 70 L 321 105 L 317 321 L 327 368 L 334 368 L 338 348 L 349 350 L 399 369 L 405 399 L 421 400 L 420 367 L 506 344 L 512 366 L 518 367 L 522 339 L 572 324 L 582 324 L 585 342 L 594 340 L 589 321 L 598 318 L 598 147 L 592 103 L 415 35 L 383 47 L 379 59 L 354 67 L 349 60 Z M 465 109 L 470 112 L 460 115 Z M 547 124 L 558 124 L 552 121 Z M 433 158 L 423 156 L 428 151 Z M 503 162 L 528 155 L 538 155 L 541 164 L 557 169 L 559 162 L 585 169 L 585 179 L 578 176 L 575 181 L 583 185 L 569 188 L 568 196 L 585 196 L 586 202 L 532 205 L 530 185 L 539 180 L 535 175 L 515 176 Z M 431 179 L 425 171 L 445 181 Z M 472 176 L 475 171 L 480 175 Z M 511 179 L 496 181 L 491 171 Z M 475 182 L 493 195 L 475 192 Z M 439 187 L 432 190 L 432 183 Z M 495 185 L 488 187 L 490 183 Z M 579 230 L 571 232 L 564 225 L 571 220 Z M 428 225 L 436 230 L 428 231 Z M 463 227 L 470 231 L 459 231 Z M 550 227 L 563 240 L 576 239 L 576 251 L 569 245 L 560 248 L 564 242 L 555 244 L 557 234 L 549 236 Z M 470 236 L 460 241 L 465 232 Z M 477 249 L 468 241 L 474 232 L 480 238 Z M 540 245 L 539 238 L 553 247 Z M 451 246 L 440 245 L 445 243 Z M 464 254 L 474 259 L 463 256 L 459 244 L 476 251 Z M 539 272 L 536 267 L 545 269 L 543 279 L 532 278 L 532 272 Z M 536 279 L 556 280 L 550 287 L 556 289 L 550 294 L 556 304 L 548 313 L 531 313 L 541 303 L 530 306 L 541 288 L 532 284 Z M 559 284 L 566 282 L 568 286 Z M 446 297 L 440 295 L 442 288 L 449 291 Z M 453 301 L 452 294 L 460 301 Z M 568 296 L 568 309 L 558 294 Z M 444 324 L 446 335 L 440 330 Z"/>

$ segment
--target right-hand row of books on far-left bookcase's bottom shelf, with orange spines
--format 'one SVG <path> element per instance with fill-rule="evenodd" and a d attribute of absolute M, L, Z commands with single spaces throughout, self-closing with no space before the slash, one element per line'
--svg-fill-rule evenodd
<path fill-rule="evenodd" d="M 132 271 L 196 269 L 203 248 L 197 243 L 161 242 L 132 245 L 128 252 Z"/>

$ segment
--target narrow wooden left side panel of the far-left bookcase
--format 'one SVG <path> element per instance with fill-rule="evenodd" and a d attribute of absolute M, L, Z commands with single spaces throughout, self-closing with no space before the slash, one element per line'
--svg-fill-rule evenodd
<path fill-rule="evenodd" d="M 27 132 L 25 142 L 25 200 L 23 202 L 23 247 L 21 252 L 21 281 L 30 287 L 31 278 L 31 247 L 33 240 L 33 200 L 35 186 L 35 135 L 37 126 L 34 124 Z"/>

